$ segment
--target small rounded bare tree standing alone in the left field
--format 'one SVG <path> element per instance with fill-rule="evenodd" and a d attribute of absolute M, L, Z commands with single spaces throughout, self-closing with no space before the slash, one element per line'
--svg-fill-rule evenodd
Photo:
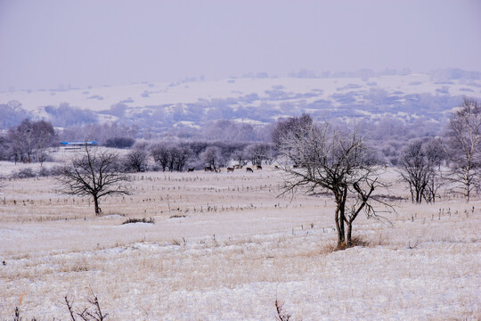
<path fill-rule="evenodd" d="M 86 146 L 85 151 L 77 153 L 58 174 L 57 192 L 92 197 L 96 215 L 102 212 L 99 207 L 102 197 L 130 194 L 130 177 L 120 172 L 118 154 L 98 151 L 97 147 Z"/>

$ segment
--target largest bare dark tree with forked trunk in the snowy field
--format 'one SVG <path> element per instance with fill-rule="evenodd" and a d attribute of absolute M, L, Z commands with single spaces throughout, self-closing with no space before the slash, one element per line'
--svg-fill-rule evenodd
<path fill-rule="evenodd" d="M 287 173 L 284 193 L 324 190 L 334 196 L 338 249 L 352 245 L 355 218 L 364 212 L 368 218 L 380 218 L 374 203 L 392 210 L 373 195 L 379 186 L 380 166 L 372 151 L 356 131 L 341 131 L 329 124 L 303 126 L 279 137 L 281 165 Z M 302 164 L 294 168 L 291 164 Z M 347 226 L 347 231 L 345 229 Z"/>

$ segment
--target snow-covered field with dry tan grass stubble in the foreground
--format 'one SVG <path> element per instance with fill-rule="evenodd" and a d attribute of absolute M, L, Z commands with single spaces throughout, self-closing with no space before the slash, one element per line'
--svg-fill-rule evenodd
<path fill-rule="evenodd" d="M 67 320 L 91 291 L 108 320 L 274 320 L 276 298 L 291 320 L 481 318 L 481 201 L 396 201 L 390 224 L 355 221 L 368 245 L 332 251 L 332 200 L 276 198 L 280 175 L 142 173 L 97 218 L 51 178 L 4 182 L 0 319 Z"/>

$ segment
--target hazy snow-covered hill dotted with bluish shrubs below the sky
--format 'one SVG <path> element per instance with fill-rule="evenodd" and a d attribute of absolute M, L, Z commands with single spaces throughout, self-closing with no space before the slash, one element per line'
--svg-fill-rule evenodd
<path fill-rule="evenodd" d="M 85 122 L 93 118 L 101 122 L 119 119 L 140 128 L 166 130 L 197 127 L 212 119 L 269 123 L 303 112 L 314 119 L 376 120 L 390 115 L 406 122 L 439 121 L 461 102 L 463 95 L 481 98 L 479 73 L 438 70 L 371 77 L 135 83 L 0 93 L 0 104 L 20 108 L 35 118 L 51 119 L 56 126 L 70 125 L 68 121 L 55 124 L 55 117 L 61 119 L 59 106 L 63 106 L 68 111 L 91 111 L 89 117 L 85 113 L 72 117 L 86 117 Z"/>

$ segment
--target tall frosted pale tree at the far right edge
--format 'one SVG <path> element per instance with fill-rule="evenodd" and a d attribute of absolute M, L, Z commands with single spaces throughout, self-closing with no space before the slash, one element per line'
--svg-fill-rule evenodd
<path fill-rule="evenodd" d="M 447 144 L 455 166 L 452 181 L 461 185 L 461 193 L 469 202 L 471 192 L 479 185 L 481 103 L 469 98 L 463 100 L 449 120 Z"/>

